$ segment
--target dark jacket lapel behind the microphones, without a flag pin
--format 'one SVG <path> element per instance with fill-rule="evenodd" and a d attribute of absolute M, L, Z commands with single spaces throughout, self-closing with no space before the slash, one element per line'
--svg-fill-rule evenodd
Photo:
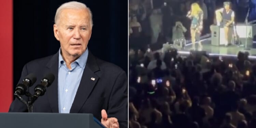
<path fill-rule="evenodd" d="M 54 74 L 55 80 L 51 86 L 47 88 L 46 95 L 53 113 L 59 113 L 58 109 L 58 60 L 59 52 L 53 55 L 46 67 Z"/>

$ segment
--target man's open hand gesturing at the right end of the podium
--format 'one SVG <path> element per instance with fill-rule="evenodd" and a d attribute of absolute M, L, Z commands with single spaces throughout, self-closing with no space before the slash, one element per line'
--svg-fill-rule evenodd
<path fill-rule="evenodd" d="M 119 128 L 117 118 L 111 117 L 108 118 L 106 114 L 106 110 L 101 110 L 101 124 L 103 124 L 107 128 Z"/>

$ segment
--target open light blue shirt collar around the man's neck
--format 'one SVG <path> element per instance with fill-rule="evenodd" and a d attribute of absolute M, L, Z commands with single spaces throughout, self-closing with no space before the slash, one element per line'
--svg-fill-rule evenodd
<path fill-rule="evenodd" d="M 64 63 L 63 57 L 60 54 L 60 52 L 61 52 L 61 48 L 59 49 L 59 68 L 61 67 L 61 64 Z M 85 52 L 79 58 L 77 58 L 74 62 L 78 63 L 78 65 L 84 69 L 87 62 L 88 54 L 89 54 L 88 48 L 86 48 Z"/>

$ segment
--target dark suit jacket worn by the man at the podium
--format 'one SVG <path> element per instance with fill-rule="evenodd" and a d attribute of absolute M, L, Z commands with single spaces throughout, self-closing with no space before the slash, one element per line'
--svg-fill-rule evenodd
<path fill-rule="evenodd" d="M 55 81 L 47 87 L 46 93 L 34 102 L 33 112 L 58 113 L 58 54 L 28 62 L 22 71 L 19 83 L 30 73 L 37 76 L 35 84 L 29 88 L 34 94 L 34 87 L 40 83 L 45 73 L 53 73 Z M 94 77 L 95 80 L 91 80 Z M 76 92 L 70 113 L 92 113 L 101 119 L 101 110 L 105 109 L 108 117 L 116 117 L 119 126 L 128 127 L 127 75 L 119 67 L 102 61 L 90 52 Z M 28 100 L 26 96 L 23 96 Z M 18 99 L 12 102 L 9 112 L 27 112 L 27 107 Z"/>

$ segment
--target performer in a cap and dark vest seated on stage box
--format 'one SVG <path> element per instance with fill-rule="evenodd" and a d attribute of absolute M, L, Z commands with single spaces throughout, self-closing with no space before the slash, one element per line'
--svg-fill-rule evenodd
<path fill-rule="evenodd" d="M 224 2 L 224 8 L 215 11 L 217 25 L 220 26 L 220 20 L 222 19 L 222 24 L 225 33 L 225 46 L 231 43 L 232 39 L 232 27 L 234 23 L 234 11 L 231 9 L 230 2 Z M 222 16 L 221 16 L 222 15 Z M 220 18 L 222 17 L 222 18 Z"/>

